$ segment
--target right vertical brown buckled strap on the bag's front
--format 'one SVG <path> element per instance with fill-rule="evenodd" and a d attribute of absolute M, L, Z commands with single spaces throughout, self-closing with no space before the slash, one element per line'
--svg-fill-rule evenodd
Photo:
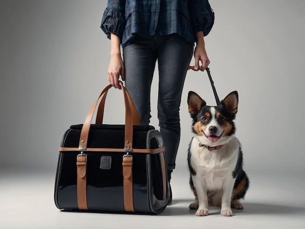
<path fill-rule="evenodd" d="M 123 156 L 123 177 L 124 177 L 124 208 L 126 211 L 133 209 L 133 157 L 131 155 Z"/>

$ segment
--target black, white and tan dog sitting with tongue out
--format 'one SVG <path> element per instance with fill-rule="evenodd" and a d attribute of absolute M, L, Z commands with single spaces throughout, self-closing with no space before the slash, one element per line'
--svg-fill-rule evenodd
<path fill-rule="evenodd" d="M 193 121 L 188 165 L 195 195 L 189 208 L 197 210 L 197 216 L 206 216 L 210 204 L 221 207 L 221 215 L 233 216 L 231 208 L 244 208 L 240 199 L 244 199 L 249 187 L 233 122 L 238 93 L 231 92 L 218 106 L 207 106 L 199 95 L 190 91 L 188 105 Z"/>

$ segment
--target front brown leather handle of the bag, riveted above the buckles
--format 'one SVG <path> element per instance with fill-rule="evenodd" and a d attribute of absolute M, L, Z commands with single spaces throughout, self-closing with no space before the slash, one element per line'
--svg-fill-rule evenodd
<path fill-rule="evenodd" d="M 128 99 L 127 90 L 123 86 L 123 83 L 120 81 L 120 85 L 122 87 L 124 102 L 125 102 L 125 142 L 124 142 L 124 149 L 125 151 L 132 151 L 133 148 L 133 115 L 132 110 L 130 107 L 130 100 Z M 88 135 L 89 135 L 89 129 L 90 124 L 92 122 L 92 118 L 95 112 L 95 108 L 97 106 L 97 102 L 99 98 L 105 94 L 107 94 L 108 90 L 112 87 L 111 84 L 106 86 L 103 91 L 100 93 L 100 95 L 95 100 L 94 104 L 90 108 L 86 119 L 84 121 L 83 127 L 81 129 L 80 138 L 79 138 L 79 151 L 86 151 L 87 150 L 87 141 L 88 141 Z"/>

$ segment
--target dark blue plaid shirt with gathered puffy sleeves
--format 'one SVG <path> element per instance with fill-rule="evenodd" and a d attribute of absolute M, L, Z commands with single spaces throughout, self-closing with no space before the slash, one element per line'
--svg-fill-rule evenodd
<path fill-rule="evenodd" d="M 121 39 L 122 46 L 141 36 L 178 34 L 194 43 L 195 33 L 207 36 L 214 23 L 208 0 L 108 0 L 101 29 Z"/>

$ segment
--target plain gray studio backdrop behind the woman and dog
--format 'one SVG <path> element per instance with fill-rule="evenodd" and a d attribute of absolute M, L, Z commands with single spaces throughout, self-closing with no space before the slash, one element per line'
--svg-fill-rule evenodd
<path fill-rule="evenodd" d="M 56 170 L 62 135 L 84 121 L 108 84 L 110 41 L 99 28 L 106 3 L 0 0 L 1 167 Z M 304 172 L 305 1 L 210 4 L 210 71 L 219 97 L 239 93 L 236 126 L 246 169 Z M 189 72 L 181 103 L 180 171 L 187 168 L 191 140 L 190 90 L 215 104 L 206 73 Z M 158 128 L 156 99 L 157 74 L 151 124 Z M 121 92 L 111 90 L 106 105 L 105 123 L 124 123 Z"/>

